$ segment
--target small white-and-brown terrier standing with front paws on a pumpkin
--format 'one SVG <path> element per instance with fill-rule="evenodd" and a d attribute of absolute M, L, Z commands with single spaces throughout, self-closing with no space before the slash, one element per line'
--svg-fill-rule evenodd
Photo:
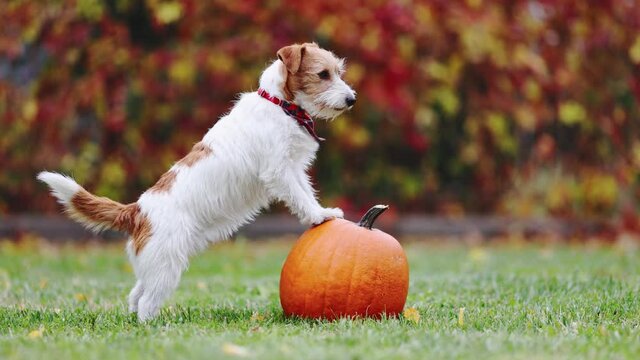
<path fill-rule="evenodd" d="M 319 138 L 312 117 L 331 120 L 350 109 L 355 92 L 342 80 L 344 60 L 315 43 L 278 50 L 257 92 L 244 93 L 137 202 L 95 196 L 70 177 L 41 172 L 66 213 L 89 229 L 127 232 L 137 282 L 129 310 L 155 317 L 178 286 L 189 257 L 228 238 L 274 200 L 302 223 L 343 217 L 315 197 L 307 169 Z"/>

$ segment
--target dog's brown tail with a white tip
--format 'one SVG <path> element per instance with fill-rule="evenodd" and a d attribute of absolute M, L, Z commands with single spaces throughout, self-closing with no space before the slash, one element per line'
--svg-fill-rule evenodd
<path fill-rule="evenodd" d="M 38 180 L 51 188 L 51 194 L 72 219 L 93 231 L 115 229 L 133 234 L 140 226 L 140 207 L 98 197 L 78 185 L 72 178 L 43 171 Z"/>

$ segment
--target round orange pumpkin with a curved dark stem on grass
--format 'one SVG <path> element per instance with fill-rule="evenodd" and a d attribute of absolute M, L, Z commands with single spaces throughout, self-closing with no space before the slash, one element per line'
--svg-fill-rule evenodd
<path fill-rule="evenodd" d="M 329 220 L 307 230 L 285 260 L 280 303 L 305 318 L 396 316 L 409 290 L 409 265 L 391 235 L 372 229 L 388 206 L 371 208 L 358 224 Z"/>

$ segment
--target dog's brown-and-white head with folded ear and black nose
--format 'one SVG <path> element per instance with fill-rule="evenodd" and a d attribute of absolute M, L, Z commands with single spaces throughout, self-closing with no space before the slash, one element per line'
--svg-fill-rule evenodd
<path fill-rule="evenodd" d="M 344 60 L 313 43 L 278 50 L 284 64 L 283 93 L 311 116 L 333 119 L 350 109 L 356 93 L 342 80 Z"/>

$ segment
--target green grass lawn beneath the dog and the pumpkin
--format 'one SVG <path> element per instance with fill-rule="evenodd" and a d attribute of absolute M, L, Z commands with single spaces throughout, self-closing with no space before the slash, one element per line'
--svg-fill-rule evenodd
<path fill-rule="evenodd" d="M 640 253 L 604 246 L 405 244 L 420 319 L 287 319 L 286 241 L 196 257 L 138 324 L 122 245 L 0 243 L 0 358 L 638 358 Z M 464 308 L 463 319 L 459 319 Z M 415 320 L 415 319 L 414 319 Z"/>

